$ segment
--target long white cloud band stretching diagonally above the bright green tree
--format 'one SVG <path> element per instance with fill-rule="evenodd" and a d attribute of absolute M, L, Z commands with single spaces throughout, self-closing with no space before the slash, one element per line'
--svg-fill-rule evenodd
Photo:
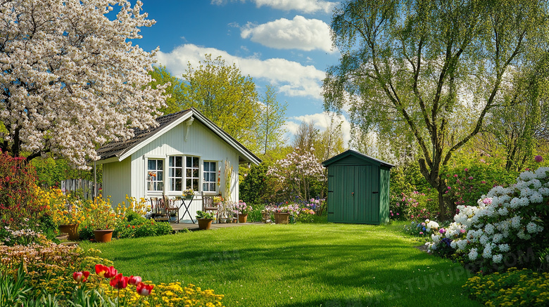
<path fill-rule="evenodd" d="M 165 65 L 172 74 L 180 77 L 187 70 L 187 63 L 190 62 L 193 67 L 197 67 L 198 61 L 204 60 L 206 54 L 211 54 L 213 58 L 221 55 L 226 64 L 235 63 L 242 74 L 249 74 L 254 79 L 266 79 L 287 96 L 309 96 L 321 99 L 321 84 L 326 74 L 322 70 L 317 70 L 313 65 L 304 66 L 284 58 L 267 60 L 241 58 L 230 55 L 227 51 L 194 44 L 178 46 L 170 53 L 158 51 L 156 59 L 158 63 Z"/>

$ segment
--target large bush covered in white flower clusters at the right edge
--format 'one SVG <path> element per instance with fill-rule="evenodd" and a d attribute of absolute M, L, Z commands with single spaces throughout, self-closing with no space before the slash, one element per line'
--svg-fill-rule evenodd
<path fill-rule="evenodd" d="M 431 235 L 429 251 L 450 244 L 463 261 L 485 272 L 508 266 L 536 268 L 539 257 L 529 263 L 517 263 L 517 257 L 526 251 L 541 256 L 548 246 L 549 235 L 543 231 L 549 227 L 548 200 L 549 167 L 524 171 L 515 185 L 496 186 L 482 195 L 478 206 L 457 206 L 454 223 Z"/>

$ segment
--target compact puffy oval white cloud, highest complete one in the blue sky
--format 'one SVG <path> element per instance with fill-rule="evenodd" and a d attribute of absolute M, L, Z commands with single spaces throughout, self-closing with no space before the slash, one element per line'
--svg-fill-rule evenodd
<path fill-rule="evenodd" d="M 332 51 L 329 25 L 322 20 L 307 19 L 296 15 L 293 20 L 280 18 L 262 25 L 248 25 L 242 28 L 240 36 L 248 37 L 263 46 L 277 49 L 320 49 Z"/>

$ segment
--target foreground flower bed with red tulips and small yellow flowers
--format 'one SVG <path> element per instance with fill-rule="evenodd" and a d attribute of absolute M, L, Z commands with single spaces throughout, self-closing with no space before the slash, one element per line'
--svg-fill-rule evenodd
<path fill-rule="evenodd" d="M 28 246 L 0 245 L 0 287 L 7 289 L 0 306 L 222 306 L 223 295 L 213 290 L 180 282 L 142 282 L 139 276 L 119 273 L 95 249 L 36 237 Z"/>

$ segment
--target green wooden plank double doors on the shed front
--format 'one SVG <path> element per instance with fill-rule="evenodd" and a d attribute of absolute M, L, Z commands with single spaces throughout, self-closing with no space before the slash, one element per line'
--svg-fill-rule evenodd
<path fill-rule="evenodd" d="M 377 174 L 372 166 L 338 166 L 333 178 L 333 200 L 329 201 L 328 221 L 343 223 L 379 223 Z M 332 188 L 332 189 L 330 189 Z M 330 218 L 332 216 L 332 218 Z"/>

